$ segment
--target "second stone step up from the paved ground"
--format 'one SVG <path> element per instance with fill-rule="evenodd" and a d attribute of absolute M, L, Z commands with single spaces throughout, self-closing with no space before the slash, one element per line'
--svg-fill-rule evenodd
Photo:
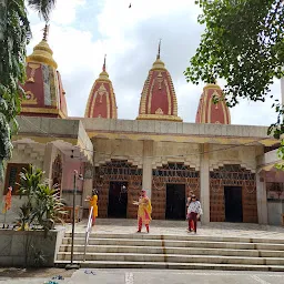
<path fill-rule="evenodd" d="M 58 253 L 58 261 L 69 261 L 71 253 Z M 83 261 L 82 253 L 74 253 L 74 261 Z M 118 262 L 170 262 L 170 263 L 212 263 L 212 264 L 250 264 L 250 265 L 283 265 L 281 257 L 244 257 L 220 255 L 179 255 L 179 254 L 138 254 L 138 253 L 87 253 L 85 261 Z"/>

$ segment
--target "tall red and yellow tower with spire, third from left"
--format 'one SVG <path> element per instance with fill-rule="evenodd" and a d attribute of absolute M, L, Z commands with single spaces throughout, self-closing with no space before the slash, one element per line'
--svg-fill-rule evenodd
<path fill-rule="evenodd" d="M 138 120 L 182 121 L 178 116 L 178 102 L 171 74 L 160 59 L 161 41 L 156 60 L 143 87 Z"/>

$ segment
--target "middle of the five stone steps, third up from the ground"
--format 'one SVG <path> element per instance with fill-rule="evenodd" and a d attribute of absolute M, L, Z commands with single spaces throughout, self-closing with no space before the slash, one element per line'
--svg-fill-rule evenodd
<path fill-rule="evenodd" d="M 71 252 L 70 245 L 61 245 L 60 252 Z M 74 245 L 74 252 L 84 252 L 84 245 Z M 227 250 L 227 248 L 194 248 L 162 246 L 120 246 L 89 245 L 87 253 L 143 253 L 143 254 L 184 254 L 184 255 L 223 255 L 250 257 L 283 257 L 283 251 Z"/>

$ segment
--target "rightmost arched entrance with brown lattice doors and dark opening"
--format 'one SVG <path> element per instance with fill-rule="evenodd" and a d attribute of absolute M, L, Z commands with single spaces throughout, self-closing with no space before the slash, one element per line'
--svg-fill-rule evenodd
<path fill-rule="evenodd" d="M 240 222 L 257 223 L 255 173 L 240 164 L 227 164 L 210 172 L 210 221 L 232 221 L 230 206 L 242 210 L 235 212 L 235 221 L 242 216 Z"/>

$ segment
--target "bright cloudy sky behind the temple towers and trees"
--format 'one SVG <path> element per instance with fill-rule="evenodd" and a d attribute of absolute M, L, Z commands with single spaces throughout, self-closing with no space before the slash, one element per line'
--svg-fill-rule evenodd
<path fill-rule="evenodd" d="M 119 119 L 135 119 L 142 88 L 162 39 L 161 59 L 172 75 L 179 116 L 194 122 L 204 85 L 187 83 L 183 71 L 203 33 L 204 27 L 197 23 L 200 12 L 193 0 L 57 0 L 48 41 L 63 81 L 69 116 L 84 115 L 106 54 Z M 29 19 L 33 37 L 28 54 L 41 41 L 44 28 L 31 10 Z M 272 94 L 280 98 L 280 82 L 275 81 Z M 268 125 L 276 120 L 271 105 L 271 100 L 244 100 L 231 109 L 232 124 Z"/>

